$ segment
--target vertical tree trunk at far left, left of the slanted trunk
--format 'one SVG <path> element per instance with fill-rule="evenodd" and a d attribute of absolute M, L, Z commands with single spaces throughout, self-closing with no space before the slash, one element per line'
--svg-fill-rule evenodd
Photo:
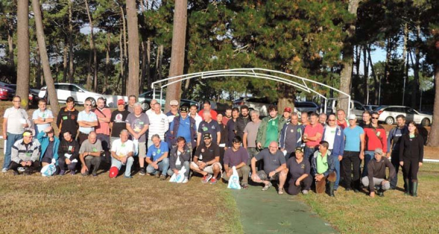
<path fill-rule="evenodd" d="M 29 0 L 18 0 L 17 6 L 17 92 L 21 107 L 28 108 L 29 102 Z"/>

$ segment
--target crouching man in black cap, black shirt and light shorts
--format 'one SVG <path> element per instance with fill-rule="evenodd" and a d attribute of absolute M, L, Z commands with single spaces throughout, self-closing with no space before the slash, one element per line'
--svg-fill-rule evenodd
<path fill-rule="evenodd" d="M 220 147 L 216 142 L 212 142 L 210 133 L 203 134 L 203 143 L 197 147 L 190 168 L 203 176 L 201 182 L 207 183 L 210 179 L 213 179 L 212 184 L 217 182 L 217 177 L 222 169 Z"/>

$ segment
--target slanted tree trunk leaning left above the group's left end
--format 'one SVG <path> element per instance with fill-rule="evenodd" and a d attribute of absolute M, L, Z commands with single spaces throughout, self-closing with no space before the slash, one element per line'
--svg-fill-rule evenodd
<path fill-rule="evenodd" d="M 50 71 L 49 57 L 47 56 L 46 42 L 44 40 L 44 30 L 42 24 L 40 2 L 38 0 L 32 0 L 32 9 L 34 10 L 35 25 L 37 28 L 38 48 L 40 49 L 41 63 L 44 72 L 44 78 L 47 84 L 46 92 L 50 100 L 50 106 L 52 107 L 52 112 L 55 115 L 58 115 L 58 113 L 60 112 L 60 106 L 58 104 L 58 97 L 55 91 L 55 85 Z"/>

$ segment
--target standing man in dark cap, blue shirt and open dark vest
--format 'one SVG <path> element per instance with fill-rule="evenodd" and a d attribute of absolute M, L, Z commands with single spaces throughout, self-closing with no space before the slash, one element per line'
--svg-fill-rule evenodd
<path fill-rule="evenodd" d="M 172 146 L 177 145 L 177 138 L 183 137 L 186 140 L 190 155 L 192 155 L 192 149 L 197 145 L 197 129 L 195 119 L 188 115 L 189 107 L 180 107 L 180 116 L 174 117 L 174 121 L 171 122 L 169 142 Z"/>

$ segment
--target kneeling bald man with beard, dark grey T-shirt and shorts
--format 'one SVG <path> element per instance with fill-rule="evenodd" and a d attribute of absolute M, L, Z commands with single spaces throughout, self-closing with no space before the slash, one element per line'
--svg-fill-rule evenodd
<path fill-rule="evenodd" d="M 268 149 L 262 150 L 252 158 L 252 180 L 265 185 L 262 191 L 266 191 L 273 186 L 270 181 L 279 180 L 278 194 L 283 194 L 285 193 L 283 185 L 286 181 L 288 169 L 286 169 L 285 156 L 278 149 L 278 143 L 272 141 Z M 260 159 L 263 159 L 264 170 L 256 172 L 256 162 Z"/>

